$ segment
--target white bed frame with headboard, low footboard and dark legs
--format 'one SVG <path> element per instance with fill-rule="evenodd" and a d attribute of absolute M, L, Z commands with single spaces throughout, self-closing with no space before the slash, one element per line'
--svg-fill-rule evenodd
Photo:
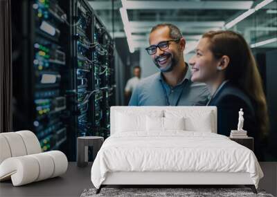
<path fill-rule="evenodd" d="M 115 112 L 130 109 L 130 106 L 112 106 L 111 107 L 111 135 L 116 124 Z M 132 110 L 153 110 L 153 109 L 169 109 L 170 106 L 152 106 L 152 107 L 136 107 Z M 175 107 L 176 108 L 176 107 Z M 199 109 L 201 106 L 178 106 L 179 109 Z M 205 107 L 205 110 L 213 111 L 215 118 L 213 124 L 217 121 L 217 109 L 215 106 Z M 254 194 L 257 194 L 256 187 L 250 178 L 249 173 L 229 173 L 229 172 L 172 172 L 172 171 L 117 171 L 107 173 L 107 177 L 100 188 L 96 190 L 96 194 L 100 193 L 102 187 L 107 185 L 163 185 L 165 187 L 176 185 L 244 185 L 250 187 Z"/>

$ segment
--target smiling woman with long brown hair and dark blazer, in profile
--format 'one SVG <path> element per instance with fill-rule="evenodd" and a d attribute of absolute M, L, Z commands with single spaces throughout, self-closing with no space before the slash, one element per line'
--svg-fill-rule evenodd
<path fill-rule="evenodd" d="M 262 79 L 247 41 L 229 30 L 206 32 L 190 59 L 193 82 L 204 82 L 211 92 L 208 106 L 217 106 L 217 133 L 237 129 L 238 111 L 244 111 L 244 130 L 254 138 L 262 160 L 262 145 L 269 129 Z"/>

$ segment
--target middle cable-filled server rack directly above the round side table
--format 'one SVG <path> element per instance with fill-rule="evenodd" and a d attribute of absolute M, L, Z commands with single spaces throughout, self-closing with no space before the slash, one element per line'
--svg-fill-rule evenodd
<path fill-rule="evenodd" d="M 92 81 L 92 21 L 93 14 L 87 1 L 64 1 L 62 8 L 66 11 L 69 29 L 64 35 L 67 44 L 66 65 L 66 106 L 68 115 L 67 156 L 69 160 L 76 158 L 76 139 L 78 136 L 92 135 L 90 100 L 93 95 Z"/>

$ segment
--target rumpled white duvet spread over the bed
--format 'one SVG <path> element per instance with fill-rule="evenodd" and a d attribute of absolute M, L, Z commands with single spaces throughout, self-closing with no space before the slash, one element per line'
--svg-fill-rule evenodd
<path fill-rule="evenodd" d="M 256 188 L 263 177 L 253 151 L 224 135 L 193 131 L 111 135 L 93 162 L 93 185 L 114 171 L 248 172 Z"/>

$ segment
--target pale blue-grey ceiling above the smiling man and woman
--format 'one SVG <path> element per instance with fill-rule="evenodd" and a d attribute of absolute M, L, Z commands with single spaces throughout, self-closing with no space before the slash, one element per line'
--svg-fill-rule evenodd
<path fill-rule="evenodd" d="M 129 19 L 128 30 L 132 33 L 134 47 L 143 47 L 148 44 L 148 35 L 152 28 L 159 23 L 172 23 L 178 26 L 188 41 L 195 41 L 193 37 L 199 37 L 208 30 L 219 30 L 227 21 L 238 17 L 241 13 L 253 8 L 261 2 L 258 1 L 207 1 L 207 0 L 188 0 L 188 1 L 133 1 L 123 0 L 114 1 L 114 31 L 116 37 L 124 37 L 125 31 L 120 17 L 119 8 L 127 10 Z M 112 4 L 110 0 L 89 1 L 94 10 L 98 13 L 108 30 L 112 30 Z M 271 15 L 276 16 L 276 1 L 269 3 L 262 9 L 270 10 Z M 261 12 L 261 13 L 260 13 Z M 269 14 L 270 14 L 269 12 Z M 260 13 L 260 14 L 259 14 Z M 275 13 L 275 14 L 274 14 Z M 272 37 L 276 35 L 277 19 L 271 15 L 265 15 L 265 12 L 258 11 L 259 17 L 256 19 L 245 19 L 243 24 L 238 24 L 232 28 L 242 32 L 247 41 L 252 43 L 259 39 L 253 39 L 259 36 Z M 270 16 L 270 17 L 269 17 Z M 257 29 L 257 24 L 260 29 Z"/>

